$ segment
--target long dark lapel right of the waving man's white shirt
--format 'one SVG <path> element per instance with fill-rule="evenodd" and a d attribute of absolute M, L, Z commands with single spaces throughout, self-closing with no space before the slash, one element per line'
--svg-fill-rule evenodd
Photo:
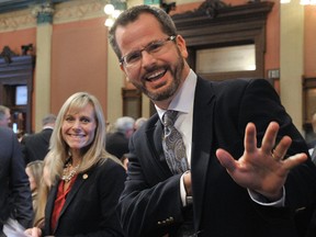
<path fill-rule="evenodd" d="M 215 98 L 210 82 L 198 78 L 192 131 L 191 172 L 194 196 L 194 227 L 199 229 L 205 192 L 206 172 L 213 144 L 213 114 Z"/>

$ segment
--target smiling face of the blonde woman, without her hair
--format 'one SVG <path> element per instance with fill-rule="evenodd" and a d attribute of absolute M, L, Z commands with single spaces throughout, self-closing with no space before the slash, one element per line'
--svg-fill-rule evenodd
<path fill-rule="evenodd" d="M 94 109 L 89 103 L 79 110 L 68 110 L 63 121 L 61 136 L 70 151 L 78 151 L 92 143 L 95 128 Z"/>

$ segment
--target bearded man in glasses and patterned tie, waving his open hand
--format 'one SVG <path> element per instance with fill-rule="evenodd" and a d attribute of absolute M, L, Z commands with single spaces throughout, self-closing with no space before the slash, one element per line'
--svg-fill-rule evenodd
<path fill-rule="evenodd" d="M 294 218 L 315 200 L 316 168 L 269 82 L 203 80 L 170 16 L 148 5 L 123 12 L 110 42 L 157 109 L 129 142 L 117 206 L 125 235 L 297 236 Z M 163 151 L 171 132 L 161 120 L 172 111 L 185 146 L 184 155 L 176 146 L 180 166 L 170 159 L 177 153 Z"/>

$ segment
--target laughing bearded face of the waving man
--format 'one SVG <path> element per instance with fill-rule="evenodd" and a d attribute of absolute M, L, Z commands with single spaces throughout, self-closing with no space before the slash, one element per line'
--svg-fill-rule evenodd
<path fill-rule="evenodd" d="M 188 57 L 184 40 L 180 35 L 173 41 L 167 40 L 171 35 L 166 35 L 159 22 L 148 13 L 126 26 L 119 26 L 115 36 L 123 57 L 128 55 L 131 58 L 142 52 L 132 65 L 128 65 L 129 60 L 122 64 L 127 80 L 155 103 L 167 106 L 189 74 L 184 63 Z M 142 50 L 157 42 L 163 42 L 158 52 Z"/>

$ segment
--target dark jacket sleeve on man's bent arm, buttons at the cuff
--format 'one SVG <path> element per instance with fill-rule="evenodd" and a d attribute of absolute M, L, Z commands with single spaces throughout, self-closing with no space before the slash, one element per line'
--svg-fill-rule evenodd
<path fill-rule="evenodd" d="M 135 140 L 137 147 L 134 146 Z M 119 216 L 126 236 L 163 236 L 177 229 L 179 223 L 183 222 L 180 198 L 181 174 L 165 176 L 161 180 L 155 181 L 145 177 L 144 169 L 147 166 L 140 165 L 135 155 L 142 153 L 139 146 L 145 147 L 144 143 L 142 136 L 133 136 L 129 142 L 128 177 L 119 202 Z M 154 158 L 147 160 L 149 159 Z M 149 169 L 155 169 L 155 165 Z"/>

